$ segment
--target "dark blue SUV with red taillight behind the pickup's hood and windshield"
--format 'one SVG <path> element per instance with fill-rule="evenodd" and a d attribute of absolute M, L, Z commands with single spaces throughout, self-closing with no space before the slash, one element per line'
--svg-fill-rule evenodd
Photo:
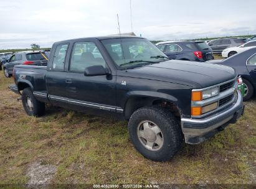
<path fill-rule="evenodd" d="M 163 51 L 168 58 L 175 60 L 204 62 L 214 59 L 211 47 L 203 41 L 159 42 L 156 47 Z"/>

